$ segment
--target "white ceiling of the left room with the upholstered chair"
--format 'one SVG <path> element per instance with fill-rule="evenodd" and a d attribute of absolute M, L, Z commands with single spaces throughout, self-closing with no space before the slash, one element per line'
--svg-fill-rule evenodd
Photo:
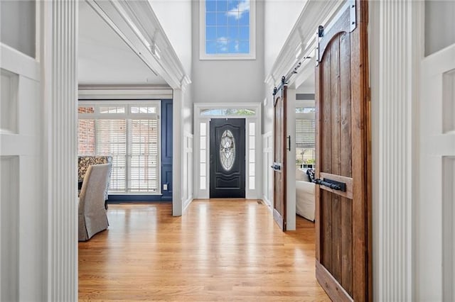
<path fill-rule="evenodd" d="M 79 4 L 79 84 L 166 85 L 85 2 Z"/>

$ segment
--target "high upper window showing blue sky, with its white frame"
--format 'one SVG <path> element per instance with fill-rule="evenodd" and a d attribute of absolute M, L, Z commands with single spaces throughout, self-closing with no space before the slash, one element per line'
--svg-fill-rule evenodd
<path fill-rule="evenodd" d="M 200 59 L 255 59 L 255 0 L 200 1 Z"/>

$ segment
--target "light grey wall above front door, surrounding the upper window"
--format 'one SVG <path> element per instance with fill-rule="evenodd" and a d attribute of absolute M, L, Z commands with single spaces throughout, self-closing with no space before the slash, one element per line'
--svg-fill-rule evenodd
<path fill-rule="evenodd" d="M 199 2 L 193 1 L 193 101 L 260 102 L 264 99 L 264 3 L 256 4 L 255 60 L 199 60 Z"/>

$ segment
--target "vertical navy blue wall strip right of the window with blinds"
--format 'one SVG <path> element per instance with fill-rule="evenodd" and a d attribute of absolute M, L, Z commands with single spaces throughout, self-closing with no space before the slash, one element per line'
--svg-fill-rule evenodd
<path fill-rule="evenodd" d="M 161 192 L 172 201 L 172 100 L 161 101 Z"/>

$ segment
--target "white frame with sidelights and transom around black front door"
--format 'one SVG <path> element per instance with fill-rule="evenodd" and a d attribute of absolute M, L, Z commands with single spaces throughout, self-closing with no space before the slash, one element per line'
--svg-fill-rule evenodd
<path fill-rule="evenodd" d="M 220 116 L 220 115 L 203 115 L 205 110 L 216 109 L 251 109 L 255 111 L 251 116 Z M 234 103 L 234 104 L 220 104 L 220 103 L 196 103 L 194 104 L 194 153 L 193 153 L 193 192 L 194 198 L 208 199 L 210 196 L 210 118 L 245 118 L 245 198 L 247 199 L 260 199 L 262 193 L 262 106 L 261 103 Z M 201 123 L 205 123 L 205 146 L 201 146 Z M 255 123 L 254 148 L 250 146 L 250 123 Z M 205 147 L 205 159 L 201 158 L 201 147 Z M 250 149 L 253 156 L 250 157 Z M 205 160 L 205 162 L 204 162 Z M 254 189 L 250 189 L 250 162 L 254 162 L 255 167 L 255 181 Z M 205 166 L 204 171 L 201 171 L 201 166 Z M 202 173 L 201 173 L 202 172 Z M 201 175 L 202 174 L 202 175 Z M 205 177 L 205 184 L 201 184 L 201 177 Z"/>

